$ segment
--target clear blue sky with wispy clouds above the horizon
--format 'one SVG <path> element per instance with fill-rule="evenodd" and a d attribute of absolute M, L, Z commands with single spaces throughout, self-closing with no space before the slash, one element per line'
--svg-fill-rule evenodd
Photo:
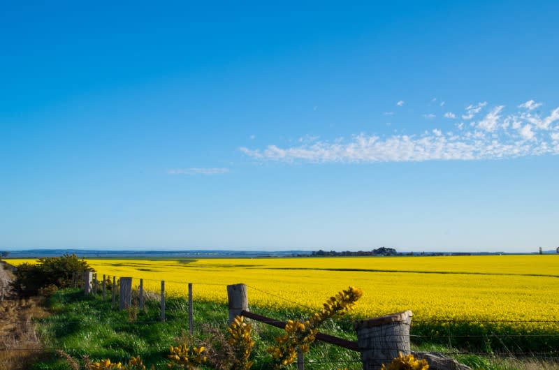
<path fill-rule="evenodd" d="M 4 3 L 0 248 L 559 244 L 559 3 Z"/>

